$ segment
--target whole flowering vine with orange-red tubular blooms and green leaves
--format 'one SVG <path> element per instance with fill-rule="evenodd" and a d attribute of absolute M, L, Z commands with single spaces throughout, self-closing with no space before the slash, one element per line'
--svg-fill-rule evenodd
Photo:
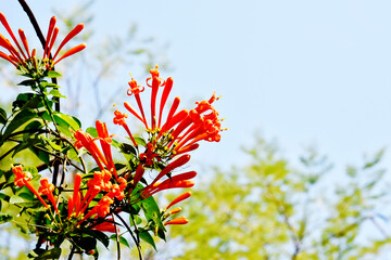
<path fill-rule="evenodd" d="M 11 150 L 14 154 L 18 150 L 30 148 L 45 162 L 37 168 L 12 166 L 13 179 L 1 185 L 11 186 L 15 197 L 16 194 L 24 194 L 13 200 L 22 208 L 21 212 L 27 214 L 25 219 L 33 223 L 29 222 L 28 226 L 39 237 L 34 253 L 43 250 L 40 248 L 43 242 L 48 242 L 45 249 L 48 250 L 49 246 L 59 248 L 67 239 L 74 251 L 97 256 L 97 240 L 109 246 L 109 237 L 102 232 L 116 233 L 117 243 L 124 238 L 124 234 L 130 234 L 138 248 L 140 239 L 154 246 L 151 234 L 165 239 L 166 225 L 188 223 L 186 217 L 173 218 L 181 208 L 172 207 L 189 198 L 190 192 L 182 193 L 163 209 L 160 209 L 154 195 L 194 185 L 197 172 L 184 168 L 190 161 L 189 153 L 197 150 L 201 141 L 219 142 L 220 131 L 225 129 L 222 129 L 223 119 L 213 106 L 219 98 L 213 93 L 211 99 L 197 102 L 191 109 L 179 109 L 180 99 L 175 98 L 165 112 L 174 81 L 171 77 L 162 79 L 156 66 L 146 80 L 148 88 L 138 84 L 134 78 L 128 82 L 127 94 L 135 96 L 137 105 L 124 102 L 124 107 L 141 121 L 144 135 L 133 134 L 127 125 L 128 115 L 118 109 L 114 112 L 113 122 L 126 131 L 129 141 L 121 136 L 114 139 L 117 134 L 110 134 L 106 123 L 101 120 L 96 121 L 94 128 L 84 131 L 76 118 L 62 114 L 58 108 L 53 110 L 52 106 L 61 95 L 56 91 L 46 91 L 46 88 L 60 88 L 56 83 L 48 87 L 46 80 L 55 77 L 56 73 L 51 72 L 54 65 L 86 48 L 81 43 L 60 54 L 63 47 L 83 30 L 84 25 L 79 24 L 68 32 L 52 54 L 59 35 L 56 20 L 52 17 L 42 42 L 43 54 L 37 57 L 36 49 L 30 51 L 22 29 L 18 30 L 18 41 L 2 13 L 0 23 L 11 37 L 9 40 L 0 34 L 0 47 L 7 52 L 0 51 L 0 57 L 29 77 L 21 84 L 35 91 L 25 96 L 21 94 L 23 99 L 15 103 L 18 109 L 13 109 L 12 116 L 7 117 L 0 110 L 1 123 L 5 121 L 0 142 L 18 143 Z M 151 95 L 147 98 L 149 105 L 143 106 L 147 90 L 151 90 Z M 48 95 L 52 95 L 52 100 Z M 23 103 L 25 100 L 28 101 Z M 8 122 L 8 118 L 11 122 Z M 28 139 L 29 134 L 34 138 Z M 59 165 L 62 166 L 60 184 L 56 179 Z M 49 169 L 47 173 L 52 171 L 53 182 L 40 178 L 38 168 L 39 171 Z M 33 174 L 28 172 L 29 169 Z M 70 180 L 65 178 L 66 173 L 74 174 L 73 185 L 66 183 Z M 24 187 L 30 193 L 26 195 Z M 17 205 L 21 200 L 24 203 Z M 28 204 L 25 200 L 29 200 Z M 126 218 L 128 221 L 122 217 L 125 213 L 129 214 Z M 86 239 L 89 243 L 85 243 Z M 34 253 L 31 256 L 36 256 Z M 56 250 L 47 255 L 42 252 L 37 259 L 48 256 L 54 259 L 55 253 Z"/>

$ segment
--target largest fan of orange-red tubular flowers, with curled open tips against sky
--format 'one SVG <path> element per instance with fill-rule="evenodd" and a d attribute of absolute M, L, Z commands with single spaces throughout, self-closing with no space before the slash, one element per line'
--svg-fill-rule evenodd
<path fill-rule="evenodd" d="M 147 121 L 140 99 L 140 93 L 143 92 L 144 88 L 137 84 L 135 79 L 131 79 L 129 82 L 130 89 L 128 94 L 135 95 L 140 114 L 128 102 L 125 102 L 124 106 L 144 125 L 149 133 L 148 142 L 152 143 L 155 147 L 154 154 L 157 154 L 161 158 L 173 157 L 177 154 L 185 154 L 198 148 L 198 143 L 202 140 L 209 142 L 218 142 L 220 140 L 219 132 L 224 130 L 220 127 L 223 119 L 218 118 L 218 113 L 212 105 L 218 100 L 215 93 L 213 93 L 210 100 L 197 102 L 197 107 L 191 110 L 181 109 L 177 112 L 180 99 L 175 98 L 164 120 L 163 109 L 172 91 L 174 80 L 173 78 L 167 78 L 166 80 L 160 78 L 157 66 L 151 69 L 150 73 L 151 77 L 147 79 L 147 86 L 152 89 L 151 125 Z M 159 87 L 164 87 L 160 100 L 157 99 Z M 159 113 L 156 113 L 157 103 L 160 103 Z M 115 123 L 122 125 L 126 129 L 125 118 L 124 114 L 115 112 Z M 127 130 L 127 132 L 129 133 L 130 131 Z M 129 136 L 131 136 L 130 133 Z"/>

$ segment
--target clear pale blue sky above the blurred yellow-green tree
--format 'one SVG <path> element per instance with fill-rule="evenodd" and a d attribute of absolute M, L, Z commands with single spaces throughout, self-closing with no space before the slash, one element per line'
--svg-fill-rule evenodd
<path fill-rule="evenodd" d="M 46 30 L 53 5 L 78 1 L 29 2 Z M 136 23 L 141 37 L 169 43 L 173 69 L 163 76 L 174 78 L 185 102 L 212 90 L 223 95 L 217 107 L 229 130 L 219 145 L 204 145 L 199 160 L 242 164 L 239 147 L 255 132 L 276 138 L 294 159 L 316 144 L 341 169 L 390 146 L 391 2 L 115 2 L 94 4 L 94 37 Z M 27 22 L 16 1 L 2 5 L 13 28 Z"/>

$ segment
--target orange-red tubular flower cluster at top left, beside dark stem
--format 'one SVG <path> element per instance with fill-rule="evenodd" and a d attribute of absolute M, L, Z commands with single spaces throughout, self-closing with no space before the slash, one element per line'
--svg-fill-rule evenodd
<path fill-rule="evenodd" d="M 72 38 L 74 38 L 76 35 L 78 35 L 83 30 L 84 25 L 78 24 L 63 39 L 63 41 L 60 43 L 54 56 L 51 57 L 50 56 L 51 49 L 52 49 L 52 47 L 54 44 L 54 41 L 56 39 L 56 36 L 59 34 L 59 27 L 54 28 L 54 26 L 55 26 L 55 16 L 53 16 L 50 20 L 42 58 L 40 61 L 38 61 L 38 63 L 37 63 L 37 60 L 35 57 L 36 51 L 34 49 L 31 51 L 31 53 L 29 52 L 29 48 L 28 48 L 28 44 L 27 44 L 27 39 L 26 39 L 26 36 L 25 36 L 24 31 L 22 29 L 18 29 L 18 35 L 20 35 L 20 38 L 21 38 L 22 43 L 23 43 L 23 48 L 22 48 L 20 46 L 20 43 L 17 42 L 17 39 L 14 36 L 9 23 L 7 22 L 5 16 L 2 13 L 0 13 L 0 22 L 4 26 L 4 28 L 7 29 L 7 31 L 9 32 L 9 35 L 11 36 L 13 42 L 15 43 L 15 46 L 17 48 L 16 49 L 14 46 L 12 46 L 12 43 L 11 43 L 11 41 L 9 39 L 7 39 L 2 35 L 0 35 L 0 46 L 2 48 L 4 48 L 5 50 L 8 50 L 8 52 L 9 52 L 9 54 L 0 52 L 0 57 L 11 62 L 18 69 L 26 68 L 28 70 L 30 68 L 36 68 L 39 72 L 46 70 L 46 69 L 51 69 L 61 60 L 63 60 L 63 58 L 65 58 L 67 56 L 71 56 L 71 55 L 73 55 L 73 54 L 75 54 L 75 53 L 77 53 L 77 52 L 79 52 L 79 51 L 81 51 L 81 50 L 84 50 L 86 48 L 86 44 L 81 43 L 81 44 L 79 44 L 77 47 L 74 47 L 71 50 L 66 51 L 62 56 L 58 57 L 58 55 L 59 55 L 60 51 L 62 50 L 62 48 Z M 39 67 L 37 67 L 37 65 L 39 65 Z"/>

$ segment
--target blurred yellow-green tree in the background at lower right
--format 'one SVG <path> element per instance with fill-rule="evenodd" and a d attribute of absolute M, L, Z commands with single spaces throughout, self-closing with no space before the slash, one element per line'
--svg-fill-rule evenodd
<path fill-rule="evenodd" d="M 258 139 L 251 161 L 199 183 L 173 229 L 176 259 L 379 259 L 391 242 L 383 151 L 344 173 L 314 150 L 301 166 Z M 172 247 L 172 249 L 175 247 Z M 159 258 L 157 258 L 159 259 Z"/>

